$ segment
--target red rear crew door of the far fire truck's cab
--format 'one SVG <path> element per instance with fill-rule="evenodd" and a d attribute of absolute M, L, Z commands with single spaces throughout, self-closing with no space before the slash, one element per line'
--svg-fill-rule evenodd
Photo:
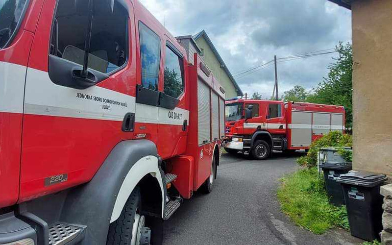
<path fill-rule="evenodd" d="M 286 133 L 286 121 L 282 103 L 275 102 L 268 104 L 267 129 L 271 134 Z"/>

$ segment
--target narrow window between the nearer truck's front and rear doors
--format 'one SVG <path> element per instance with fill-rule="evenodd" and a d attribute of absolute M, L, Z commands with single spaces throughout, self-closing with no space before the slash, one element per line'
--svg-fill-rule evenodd
<path fill-rule="evenodd" d="M 142 85 L 158 90 L 161 60 L 161 39 L 150 28 L 139 22 L 140 56 L 142 58 Z"/>

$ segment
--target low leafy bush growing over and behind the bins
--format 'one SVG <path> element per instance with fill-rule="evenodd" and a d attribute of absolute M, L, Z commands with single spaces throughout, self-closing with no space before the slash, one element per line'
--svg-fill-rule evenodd
<path fill-rule="evenodd" d="M 318 140 L 314 141 L 310 147 L 306 156 L 301 156 L 297 159 L 297 163 L 302 167 L 313 168 L 317 166 L 317 156 L 320 147 L 351 147 L 352 136 L 349 134 L 343 134 L 340 131 L 331 131 L 329 134 L 324 135 Z M 341 152 L 339 152 L 341 153 Z M 344 159 L 351 159 L 351 151 L 342 150 Z"/>

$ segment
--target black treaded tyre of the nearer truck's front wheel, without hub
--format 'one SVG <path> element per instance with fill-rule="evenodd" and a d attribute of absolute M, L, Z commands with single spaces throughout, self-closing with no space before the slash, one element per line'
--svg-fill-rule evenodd
<path fill-rule="evenodd" d="M 140 203 L 140 190 L 135 188 L 128 197 L 119 219 L 110 224 L 106 245 L 131 244 L 133 223 Z"/>

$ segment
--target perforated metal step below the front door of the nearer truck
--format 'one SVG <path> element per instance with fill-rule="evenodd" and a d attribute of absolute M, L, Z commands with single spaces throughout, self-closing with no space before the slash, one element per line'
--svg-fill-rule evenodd
<path fill-rule="evenodd" d="M 82 234 L 83 231 L 83 227 L 57 222 L 49 227 L 49 245 L 67 244 Z"/>

